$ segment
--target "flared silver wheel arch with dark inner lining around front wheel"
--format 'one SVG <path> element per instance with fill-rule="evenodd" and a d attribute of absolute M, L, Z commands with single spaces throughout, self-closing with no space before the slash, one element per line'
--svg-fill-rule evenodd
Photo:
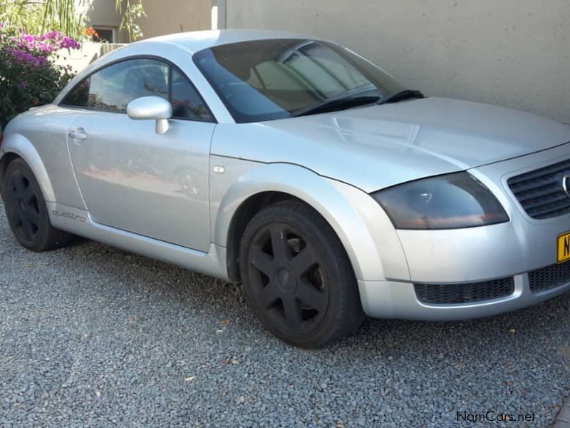
<path fill-rule="evenodd" d="M 284 163 L 264 164 L 247 171 L 229 187 L 219 205 L 214 220 L 214 242 L 227 248 L 230 279 L 239 281 L 239 242 L 245 226 L 268 203 L 283 199 L 301 200 L 331 225 L 358 279 L 385 279 L 373 236 L 376 230 L 371 230 L 368 219 L 355 206 L 366 205 L 361 208 L 383 213 L 378 204 L 351 185 Z M 399 242 L 398 248 L 401 250 Z M 402 260 L 408 276 L 405 258 Z"/>

